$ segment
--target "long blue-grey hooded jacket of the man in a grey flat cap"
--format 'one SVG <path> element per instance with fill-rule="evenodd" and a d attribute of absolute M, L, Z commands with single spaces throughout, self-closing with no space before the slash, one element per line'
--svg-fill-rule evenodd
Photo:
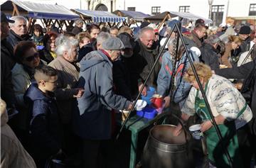
<path fill-rule="evenodd" d="M 114 94 L 112 62 L 101 50 L 85 55 L 80 66 L 78 86 L 85 93 L 78 99 L 74 131 L 84 139 L 110 139 L 112 108 L 128 108 L 130 101 Z"/>

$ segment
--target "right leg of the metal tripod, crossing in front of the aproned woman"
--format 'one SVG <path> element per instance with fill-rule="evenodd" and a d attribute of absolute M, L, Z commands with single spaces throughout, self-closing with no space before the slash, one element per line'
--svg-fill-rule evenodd
<path fill-rule="evenodd" d="M 200 80 L 199 80 L 198 74 L 197 74 L 197 72 L 196 72 L 196 68 L 195 68 L 194 65 L 193 65 L 193 61 L 191 60 L 191 57 L 189 57 L 188 49 L 187 49 L 186 44 L 185 44 L 185 42 L 184 42 L 184 40 L 183 40 L 183 38 L 182 38 L 182 36 L 181 36 L 181 31 L 178 29 L 177 23 L 175 23 L 175 26 L 174 26 L 174 27 L 177 27 L 178 34 L 179 34 L 179 36 L 181 37 L 181 42 L 182 42 L 182 44 L 183 44 L 184 47 L 185 47 L 186 55 L 187 55 L 187 57 L 188 57 L 189 63 L 191 64 L 191 68 L 192 68 L 192 70 L 193 70 L 193 73 L 195 74 L 196 82 L 198 83 L 198 86 L 199 86 L 199 89 L 200 89 L 201 94 L 202 94 L 202 96 L 203 96 L 203 99 L 204 99 L 204 101 L 206 102 L 206 107 L 208 108 L 208 111 L 209 111 L 209 113 L 210 113 L 210 118 L 211 118 L 211 120 L 213 121 L 212 123 L 213 123 L 213 126 L 214 126 L 214 128 L 215 128 L 215 130 L 216 130 L 216 132 L 217 132 L 217 135 L 218 135 L 218 138 L 219 138 L 219 140 L 220 140 L 220 144 L 221 144 L 221 147 L 222 147 L 222 149 L 223 149 L 223 152 L 225 152 L 225 155 L 226 155 L 226 157 L 227 157 L 227 159 L 228 159 L 228 162 L 229 162 L 229 164 L 230 164 L 230 167 L 233 168 L 232 159 L 231 159 L 231 157 L 230 157 L 230 154 L 228 153 L 227 148 L 223 146 L 223 137 L 222 137 L 222 135 L 221 135 L 221 133 L 220 133 L 220 129 L 218 128 L 218 125 L 217 125 L 217 123 L 216 123 L 216 121 L 215 121 L 215 119 L 214 119 L 213 113 L 212 113 L 212 111 L 210 110 L 210 105 L 209 105 L 208 100 L 207 100 L 207 98 L 206 98 L 206 93 L 203 91 L 203 86 L 202 86 L 202 84 L 201 84 L 201 82 L 200 82 Z"/>

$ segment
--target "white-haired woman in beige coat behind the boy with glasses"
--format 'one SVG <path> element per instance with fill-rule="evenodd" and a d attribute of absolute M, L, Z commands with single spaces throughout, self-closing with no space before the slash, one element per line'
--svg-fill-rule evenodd
<path fill-rule="evenodd" d="M 75 64 L 78 57 L 78 40 L 60 35 L 56 41 L 58 41 L 56 48 L 58 57 L 50 62 L 49 66 L 58 70 L 58 86 L 54 93 L 65 133 L 64 150 L 70 152 L 70 150 L 74 148 L 71 147 L 72 144 L 74 145 L 71 133 L 71 116 L 75 108 L 73 104 L 75 98 L 80 98 L 83 93 L 83 89 L 77 88 L 80 70 L 78 65 Z"/>

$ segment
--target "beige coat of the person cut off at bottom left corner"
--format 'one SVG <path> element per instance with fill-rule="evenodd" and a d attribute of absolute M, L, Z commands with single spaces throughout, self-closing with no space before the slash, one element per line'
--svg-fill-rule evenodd
<path fill-rule="evenodd" d="M 32 157 L 7 125 L 6 104 L 1 100 L 1 164 L 3 168 L 36 168 Z"/>

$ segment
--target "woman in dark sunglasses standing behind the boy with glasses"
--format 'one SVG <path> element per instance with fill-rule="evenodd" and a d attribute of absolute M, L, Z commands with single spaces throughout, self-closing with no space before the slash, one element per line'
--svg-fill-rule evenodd
<path fill-rule="evenodd" d="M 18 123 L 16 123 L 15 126 L 18 129 L 26 130 L 28 115 L 26 105 L 23 101 L 23 95 L 34 79 L 33 74 L 35 68 L 38 67 L 38 65 L 43 64 L 43 62 L 39 59 L 35 43 L 31 41 L 19 42 L 14 48 L 14 57 L 16 57 L 17 63 L 11 70 L 11 82 L 14 86 L 16 107 L 19 111 L 17 119 Z"/>

